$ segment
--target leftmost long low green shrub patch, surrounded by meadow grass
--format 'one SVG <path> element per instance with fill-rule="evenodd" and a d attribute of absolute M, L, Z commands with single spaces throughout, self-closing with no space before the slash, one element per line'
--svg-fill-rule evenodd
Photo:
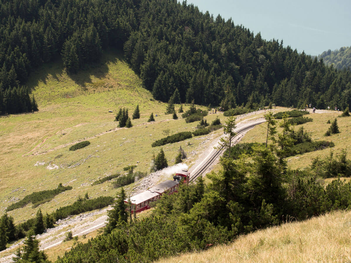
<path fill-rule="evenodd" d="M 29 203 L 32 203 L 33 207 L 37 207 L 40 204 L 43 204 L 45 202 L 52 200 L 52 198 L 54 198 L 55 195 L 58 195 L 59 193 L 62 193 L 66 190 L 71 190 L 71 189 L 72 189 L 72 186 L 62 186 L 62 184 L 60 183 L 56 189 L 33 192 L 30 195 L 26 195 L 22 200 L 9 205 L 6 208 L 6 211 L 8 212 L 16 208 L 24 207 Z"/>

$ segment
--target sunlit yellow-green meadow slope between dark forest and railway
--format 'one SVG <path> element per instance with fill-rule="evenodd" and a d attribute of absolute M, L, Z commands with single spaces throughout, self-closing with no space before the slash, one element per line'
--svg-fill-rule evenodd
<path fill-rule="evenodd" d="M 123 168 L 128 165 L 137 165 L 135 171 L 149 171 L 153 153 L 160 151 L 151 143 L 165 137 L 163 130 L 170 129 L 174 134 L 194 130 L 198 124 L 165 115 L 166 104 L 151 100 L 151 93 L 141 87 L 139 77 L 113 52 L 105 53 L 99 65 L 77 75 L 67 75 L 59 62 L 50 63 L 32 74 L 29 85 L 39 112 L 0 117 L 0 214 L 33 191 L 54 189 L 59 183 L 73 189 L 38 208 L 28 204 L 10 211 L 15 222 L 34 217 L 39 208 L 51 213 L 86 192 L 90 197 L 114 196 L 118 189 L 110 182 L 96 186 L 91 183 L 106 175 L 125 173 Z M 117 110 L 128 108 L 131 117 L 137 103 L 140 119 L 132 120 L 132 128 L 118 128 L 114 121 Z M 147 122 L 151 112 L 159 115 L 152 123 Z M 208 115 L 207 121 L 211 123 L 216 116 Z M 201 153 L 204 138 L 220 133 L 218 130 L 163 146 L 168 164 L 174 163 L 181 146 L 190 165 Z M 68 150 L 82 140 L 91 144 Z"/>

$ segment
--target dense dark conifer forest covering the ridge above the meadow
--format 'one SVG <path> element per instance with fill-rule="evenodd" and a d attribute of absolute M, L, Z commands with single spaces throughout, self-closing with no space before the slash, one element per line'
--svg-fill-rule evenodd
<path fill-rule="evenodd" d="M 144 86 L 164 102 L 176 93 L 180 102 L 229 108 L 271 101 L 351 107 L 348 70 L 325 66 L 283 41 L 266 41 L 186 1 L 1 0 L 0 6 L 0 95 L 19 89 L 33 68 L 58 56 L 75 73 L 113 47 L 124 50 Z"/>

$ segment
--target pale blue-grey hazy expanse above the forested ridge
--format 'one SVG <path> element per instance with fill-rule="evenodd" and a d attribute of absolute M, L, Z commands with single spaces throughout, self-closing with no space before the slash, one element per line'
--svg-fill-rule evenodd
<path fill-rule="evenodd" d="M 203 13 L 243 25 L 263 39 L 283 39 L 299 53 L 351 46 L 351 0 L 188 0 Z"/>

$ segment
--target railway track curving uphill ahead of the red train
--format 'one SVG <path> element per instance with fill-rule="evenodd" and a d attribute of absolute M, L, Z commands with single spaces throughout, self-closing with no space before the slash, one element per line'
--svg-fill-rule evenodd
<path fill-rule="evenodd" d="M 259 125 L 261 123 L 264 123 L 265 120 L 257 121 L 254 123 L 247 124 L 243 127 L 237 128 L 234 131 L 236 132 L 236 136 L 233 138 L 233 140 L 236 140 L 240 134 L 244 133 L 247 130 L 252 129 L 256 125 Z M 219 146 L 219 144 L 218 144 Z M 219 149 L 213 149 L 210 154 L 207 155 L 207 157 L 192 171 L 193 176 L 189 179 L 190 182 L 195 181 L 200 175 L 202 175 L 208 167 L 212 165 L 212 163 L 224 152 L 223 147 Z"/>

